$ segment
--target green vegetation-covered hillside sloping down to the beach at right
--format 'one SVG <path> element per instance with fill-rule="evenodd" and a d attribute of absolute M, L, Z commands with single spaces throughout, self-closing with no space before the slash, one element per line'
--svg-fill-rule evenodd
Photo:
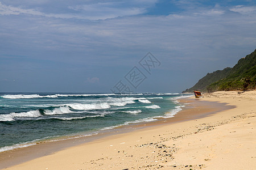
<path fill-rule="evenodd" d="M 256 87 L 256 49 L 253 53 L 241 58 L 233 67 L 208 73 L 195 84 L 195 86 L 183 91 L 228 91 L 247 90 Z"/>

